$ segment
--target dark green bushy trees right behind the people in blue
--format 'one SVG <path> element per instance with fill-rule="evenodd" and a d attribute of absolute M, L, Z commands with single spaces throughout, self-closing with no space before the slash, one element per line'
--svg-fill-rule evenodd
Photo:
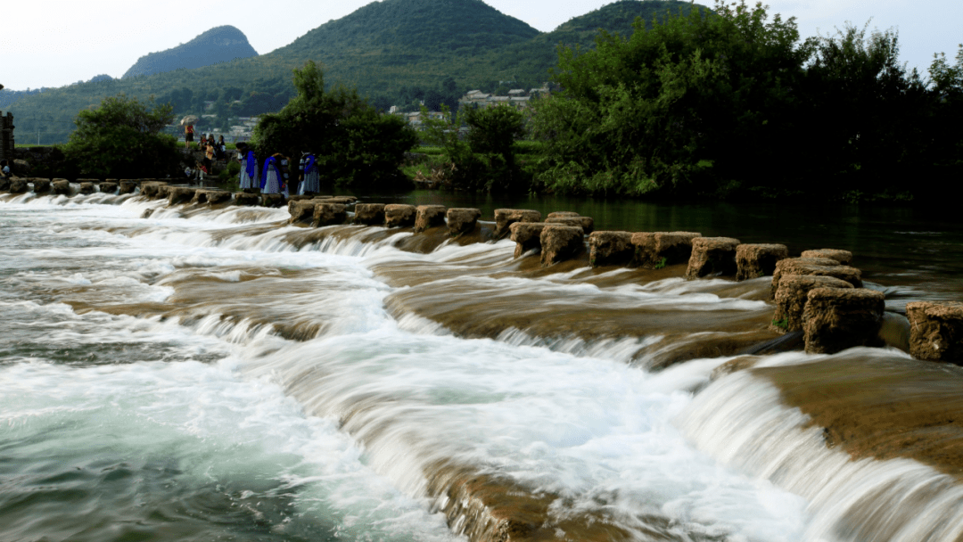
<path fill-rule="evenodd" d="M 276 114 L 261 117 L 252 140 L 257 154 L 298 159 L 318 157 L 322 181 L 345 188 L 402 188 L 399 166 L 418 142 L 399 116 L 379 113 L 355 90 L 325 90 L 321 68 L 308 62 L 294 70 L 298 95 Z"/>

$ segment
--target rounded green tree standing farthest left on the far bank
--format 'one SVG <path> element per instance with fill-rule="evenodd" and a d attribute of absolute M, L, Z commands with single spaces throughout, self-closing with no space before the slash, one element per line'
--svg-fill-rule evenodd
<path fill-rule="evenodd" d="M 153 107 L 150 107 L 153 106 Z M 161 131 L 173 120 L 169 104 L 154 105 L 118 94 L 81 111 L 65 147 L 82 174 L 99 178 L 157 177 L 175 173 L 177 140 Z"/>

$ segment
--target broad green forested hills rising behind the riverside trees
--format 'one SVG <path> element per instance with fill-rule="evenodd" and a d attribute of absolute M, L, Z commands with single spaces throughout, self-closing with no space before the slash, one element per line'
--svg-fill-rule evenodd
<path fill-rule="evenodd" d="M 415 100 L 434 107 L 455 103 L 469 89 L 540 86 L 550 79 L 559 43 L 591 47 L 599 29 L 627 37 L 637 16 L 651 21 L 666 13 L 688 13 L 692 6 L 680 0 L 622 0 L 539 33 L 481 0 L 382 0 L 268 54 L 44 89 L 9 109 L 17 116 L 17 128 L 39 133 L 41 142 L 65 142 L 80 110 L 120 92 L 153 95 L 158 102 L 170 102 L 178 115 L 223 113 L 226 122 L 226 116 L 280 110 L 294 95 L 292 68 L 308 60 L 323 66 L 327 85 L 355 87 L 378 108 Z M 211 102 L 216 102 L 213 109 L 205 111 Z"/>

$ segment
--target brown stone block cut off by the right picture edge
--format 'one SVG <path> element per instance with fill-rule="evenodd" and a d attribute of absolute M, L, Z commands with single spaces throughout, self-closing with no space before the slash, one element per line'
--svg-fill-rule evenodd
<path fill-rule="evenodd" d="M 906 317 L 913 357 L 963 365 L 963 303 L 914 301 L 906 303 Z"/>

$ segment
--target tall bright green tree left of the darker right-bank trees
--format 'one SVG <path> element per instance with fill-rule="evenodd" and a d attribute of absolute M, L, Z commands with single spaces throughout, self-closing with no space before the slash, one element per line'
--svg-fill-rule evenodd
<path fill-rule="evenodd" d="M 793 18 L 761 4 L 636 20 L 631 38 L 601 33 L 594 50 L 560 48 L 564 89 L 534 102 L 548 143 L 546 188 L 591 194 L 717 190 L 713 181 L 782 157 L 794 88 L 809 50 Z M 715 174 L 711 174 L 715 172 Z"/>

